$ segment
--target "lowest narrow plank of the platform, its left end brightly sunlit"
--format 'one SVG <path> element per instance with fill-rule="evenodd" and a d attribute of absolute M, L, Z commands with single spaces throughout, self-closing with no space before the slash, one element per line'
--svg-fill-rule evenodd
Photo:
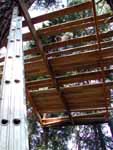
<path fill-rule="evenodd" d="M 92 114 L 85 114 L 80 116 L 74 116 L 73 120 L 75 125 L 78 124 L 90 124 L 90 123 L 103 123 L 105 121 L 106 112 L 98 112 Z M 44 126 L 56 126 L 56 125 L 71 125 L 68 117 L 58 117 L 58 118 L 45 118 L 42 119 Z"/>

